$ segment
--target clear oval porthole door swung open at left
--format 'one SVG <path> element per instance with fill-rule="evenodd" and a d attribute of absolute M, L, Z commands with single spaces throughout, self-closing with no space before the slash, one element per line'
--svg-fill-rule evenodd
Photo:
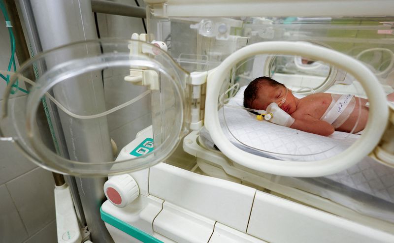
<path fill-rule="evenodd" d="M 59 47 L 11 76 L 1 140 L 16 144 L 39 166 L 63 174 L 106 176 L 147 168 L 164 161 L 187 130 L 188 79 L 189 73 L 165 51 L 143 41 Z M 142 149 L 114 161 L 111 139 L 123 148 L 150 125 Z"/>

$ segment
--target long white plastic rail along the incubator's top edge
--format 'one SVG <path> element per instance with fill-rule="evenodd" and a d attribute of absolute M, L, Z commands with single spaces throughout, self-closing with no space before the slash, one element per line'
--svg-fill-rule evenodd
<path fill-rule="evenodd" d="M 239 17 L 239 16 L 392 16 L 393 0 L 346 1 L 239 1 L 145 0 L 152 4 L 153 15 L 165 17 Z M 162 2 L 165 4 L 158 4 Z"/>

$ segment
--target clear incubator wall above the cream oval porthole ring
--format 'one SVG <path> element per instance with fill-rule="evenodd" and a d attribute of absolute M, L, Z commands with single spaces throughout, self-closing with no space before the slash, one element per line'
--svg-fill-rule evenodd
<path fill-rule="evenodd" d="M 263 41 L 303 41 L 363 62 L 382 85 L 394 86 L 393 18 L 387 17 L 179 17 L 149 15 L 150 33 L 164 41 L 174 59 L 195 55 L 209 69 L 243 46 Z M 204 56 L 201 59 L 201 56 Z M 206 58 L 205 58 L 206 57 Z M 299 57 L 302 59 L 302 57 Z M 298 59 L 299 59 L 298 58 Z M 313 61 L 313 60 L 312 60 Z M 278 60 L 280 62 L 280 60 Z M 298 63 L 298 67 L 317 64 Z M 291 67 L 288 67 L 291 71 Z M 313 72 L 313 70 L 310 70 Z M 315 73 L 317 74 L 317 73 Z"/>

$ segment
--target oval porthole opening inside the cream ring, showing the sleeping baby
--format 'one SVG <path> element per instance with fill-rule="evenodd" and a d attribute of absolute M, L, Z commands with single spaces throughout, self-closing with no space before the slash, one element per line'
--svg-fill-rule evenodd
<path fill-rule="evenodd" d="M 223 133 L 231 143 L 243 151 L 279 160 L 320 160 L 345 151 L 360 137 L 359 134 L 356 134 L 360 132 L 358 124 L 362 123 L 365 126 L 366 114 L 362 112 L 367 108 L 359 110 L 360 104 L 365 102 L 364 99 L 357 96 L 364 95 L 358 81 L 354 80 L 348 85 L 335 85 L 332 77 L 333 70 L 338 70 L 338 68 L 323 61 L 295 55 L 268 54 L 239 61 L 227 75 L 228 82 L 223 83 L 220 92 L 218 115 Z M 272 89 L 272 92 L 278 92 L 280 97 L 271 97 L 269 96 L 271 91 L 262 91 L 262 89 L 274 87 L 272 82 L 266 83 L 267 86 L 263 88 L 265 82 L 258 81 L 253 89 L 259 89 L 260 92 L 256 91 L 254 94 L 251 94 L 250 91 L 245 92 L 253 80 L 255 80 L 253 82 L 257 82 L 258 77 L 263 77 L 262 80 L 269 77 L 283 85 Z M 277 98 L 278 108 L 275 111 L 280 110 L 285 114 L 284 116 L 287 115 L 290 119 L 289 122 L 293 122 L 293 117 L 296 116 L 290 117 L 289 114 L 286 114 L 290 111 L 286 110 L 286 107 L 282 107 L 284 104 L 291 105 L 290 102 L 298 102 L 297 109 L 301 110 L 299 108 L 300 100 L 302 100 L 301 104 L 304 104 L 305 99 L 309 97 L 316 100 L 311 101 L 307 107 L 314 106 L 317 102 L 323 102 L 322 109 L 315 108 L 317 109 L 316 120 L 328 121 L 329 124 L 332 124 L 332 128 L 329 128 L 332 131 L 325 134 L 320 130 L 309 131 L 300 127 L 295 129 L 293 126 L 290 127 L 289 122 L 275 123 L 272 119 L 274 112 L 266 110 L 267 107 L 247 107 L 255 109 L 254 112 L 245 110 L 245 100 L 251 97 L 245 97 L 244 94 L 256 95 L 253 97 L 254 102 L 257 102 L 256 100 L 263 102 L 265 99 L 260 99 L 261 95 L 266 95 L 267 99 L 268 97 L 270 99 Z M 306 98 L 303 99 L 304 97 Z M 296 101 L 292 101 L 292 99 Z M 338 113 L 339 115 L 333 111 L 335 109 L 333 107 L 338 105 L 344 109 L 343 112 Z M 268 107 L 268 109 L 271 108 Z M 263 110 L 264 114 L 256 114 L 258 110 Z M 261 115 L 263 115 L 262 118 L 259 118 Z M 274 113 L 273 117 L 275 115 L 279 116 L 280 114 Z M 354 119 L 352 125 L 349 125 L 349 117 L 351 116 Z M 332 133 L 334 129 L 336 131 Z"/>

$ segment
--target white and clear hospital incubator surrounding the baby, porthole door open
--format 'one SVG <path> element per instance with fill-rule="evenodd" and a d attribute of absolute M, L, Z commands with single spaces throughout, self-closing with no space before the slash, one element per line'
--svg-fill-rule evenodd
<path fill-rule="evenodd" d="M 313 14 L 285 2 L 303 17 L 266 2 L 147 0 L 148 34 L 25 63 L 4 93 L 14 127 L 1 139 L 51 171 L 108 176 L 100 213 L 116 242 L 393 242 L 393 2 L 321 1 Z M 299 98 L 367 98 L 363 133 L 278 125 L 285 100 L 256 119 L 243 91 L 261 76 Z M 29 95 L 13 97 L 21 82 Z"/>

